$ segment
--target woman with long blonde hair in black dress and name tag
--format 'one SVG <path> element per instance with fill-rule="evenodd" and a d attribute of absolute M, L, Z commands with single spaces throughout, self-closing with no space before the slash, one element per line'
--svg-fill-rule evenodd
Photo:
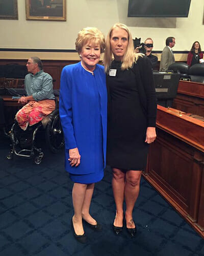
<path fill-rule="evenodd" d="M 148 145 L 156 139 L 156 92 L 151 63 L 134 53 L 129 29 L 115 24 L 109 31 L 104 55 L 109 96 L 107 164 L 113 170 L 115 234 L 123 221 L 131 237 L 136 234 L 133 209 L 139 195 Z M 126 203 L 125 214 L 123 201 Z"/>

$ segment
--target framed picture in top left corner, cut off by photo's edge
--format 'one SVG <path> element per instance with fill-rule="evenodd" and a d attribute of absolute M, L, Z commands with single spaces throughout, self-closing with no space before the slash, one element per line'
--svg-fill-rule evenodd
<path fill-rule="evenodd" d="M 0 19 L 18 19 L 17 0 L 0 0 Z"/>

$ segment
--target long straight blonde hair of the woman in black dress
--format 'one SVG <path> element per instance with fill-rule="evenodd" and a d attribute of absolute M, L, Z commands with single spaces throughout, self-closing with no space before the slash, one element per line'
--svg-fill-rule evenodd
<path fill-rule="evenodd" d="M 126 52 L 124 53 L 124 56 L 122 58 L 121 69 L 125 70 L 125 69 L 132 68 L 134 62 L 137 61 L 138 57 L 143 56 L 143 54 L 135 53 L 134 45 L 133 45 L 133 38 L 132 38 L 129 28 L 127 28 L 127 26 L 124 24 L 116 23 L 109 30 L 109 33 L 108 33 L 107 39 L 106 39 L 106 50 L 105 50 L 104 61 L 103 61 L 106 73 L 109 72 L 111 62 L 114 59 L 113 53 L 111 51 L 111 36 L 112 36 L 113 29 L 116 29 L 116 28 L 124 29 L 128 34 L 128 44 L 127 44 Z"/>

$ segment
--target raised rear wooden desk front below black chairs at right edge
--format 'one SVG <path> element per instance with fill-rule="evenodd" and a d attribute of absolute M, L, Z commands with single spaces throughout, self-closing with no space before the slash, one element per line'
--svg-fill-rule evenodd
<path fill-rule="evenodd" d="M 204 84 L 191 81 L 180 81 L 173 108 L 204 116 Z"/>

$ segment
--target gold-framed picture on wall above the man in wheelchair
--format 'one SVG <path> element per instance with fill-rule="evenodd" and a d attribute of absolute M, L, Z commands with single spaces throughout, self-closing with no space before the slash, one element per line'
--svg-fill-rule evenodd
<path fill-rule="evenodd" d="M 25 0 L 25 12 L 28 20 L 65 21 L 66 0 Z"/>

